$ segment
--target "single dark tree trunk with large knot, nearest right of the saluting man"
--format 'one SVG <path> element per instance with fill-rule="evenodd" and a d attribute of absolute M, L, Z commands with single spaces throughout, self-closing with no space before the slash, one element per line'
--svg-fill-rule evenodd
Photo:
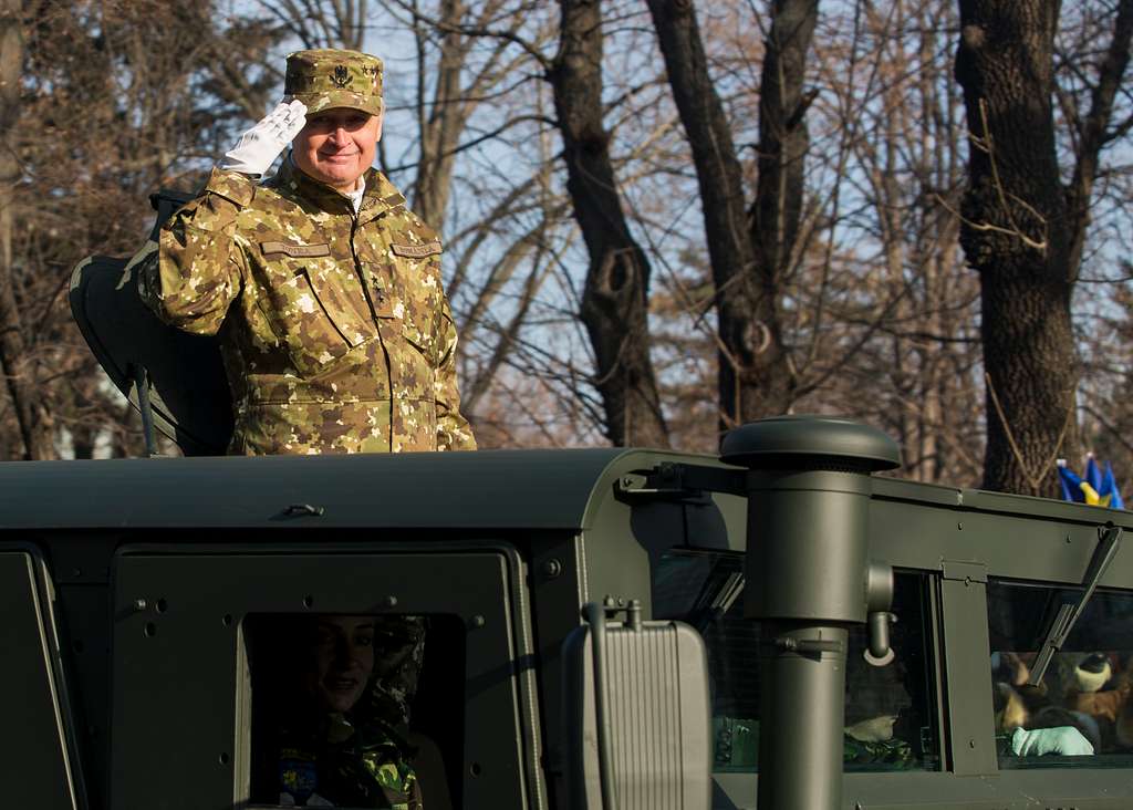
<path fill-rule="evenodd" d="M 649 263 L 630 235 L 602 122 L 602 3 L 560 0 L 560 9 L 550 79 L 566 190 L 590 257 L 581 318 L 597 360 L 606 435 L 615 445 L 668 446 L 649 358 Z"/>

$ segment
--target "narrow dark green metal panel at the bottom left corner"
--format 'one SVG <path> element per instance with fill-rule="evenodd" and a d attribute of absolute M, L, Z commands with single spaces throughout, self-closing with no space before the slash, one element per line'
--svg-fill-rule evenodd
<path fill-rule="evenodd" d="M 28 552 L 0 552 L 0 770 L 9 807 L 75 810 L 79 807 L 56 691 L 52 636 Z"/>

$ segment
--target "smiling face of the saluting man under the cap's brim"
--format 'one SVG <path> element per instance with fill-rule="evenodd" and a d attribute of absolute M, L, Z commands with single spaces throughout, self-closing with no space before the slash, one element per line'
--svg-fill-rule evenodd
<path fill-rule="evenodd" d="M 352 191 L 382 138 L 382 117 L 344 106 L 307 116 L 291 142 L 296 165 L 340 191 Z"/>

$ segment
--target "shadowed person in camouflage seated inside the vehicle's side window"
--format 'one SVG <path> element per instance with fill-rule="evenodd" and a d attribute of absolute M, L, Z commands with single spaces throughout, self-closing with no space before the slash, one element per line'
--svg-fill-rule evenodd
<path fill-rule="evenodd" d="M 274 727 L 258 752 L 267 760 L 261 774 L 275 784 L 256 792 L 278 795 L 283 807 L 418 810 L 423 791 L 407 723 L 425 620 L 323 615 L 293 621 L 298 628 L 289 621 L 287 636 L 297 638 L 299 655 L 281 673 L 270 707 Z"/>

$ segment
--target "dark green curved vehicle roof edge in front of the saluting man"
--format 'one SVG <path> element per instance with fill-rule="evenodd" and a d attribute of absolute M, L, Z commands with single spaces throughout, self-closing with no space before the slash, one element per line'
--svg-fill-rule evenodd
<path fill-rule="evenodd" d="M 0 464 L 0 528 L 582 529 L 597 494 L 661 461 L 624 449 L 214 457 Z M 303 520 L 309 505 L 317 521 Z"/>

